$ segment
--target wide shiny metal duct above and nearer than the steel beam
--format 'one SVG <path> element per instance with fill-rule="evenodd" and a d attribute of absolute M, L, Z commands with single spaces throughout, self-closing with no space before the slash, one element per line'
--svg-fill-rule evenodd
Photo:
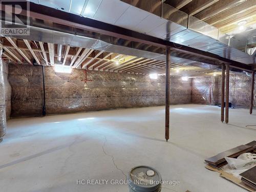
<path fill-rule="evenodd" d="M 39 2 L 30 1 L 37 4 Z M 83 0 L 71 1 L 71 3 L 50 0 L 39 3 L 231 60 L 246 64 L 256 63 L 255 57 L 237 49 L 241 46 L 245 47 L 244 39 L 231 38 L 228 46 L 228 35 L 159 0 Z"/>

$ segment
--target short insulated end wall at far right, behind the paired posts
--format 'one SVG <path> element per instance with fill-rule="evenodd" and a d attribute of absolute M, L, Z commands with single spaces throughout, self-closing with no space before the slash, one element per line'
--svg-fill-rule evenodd
<path fill-rule="evenodd" d="M 256 100 L 255 90 L 254 86 L 254 106 Z M 249 107 L 250 91 L 251 76 L 246 74 L 230 74 L 229 102 L 232 102 L 232 106 Z M 191 93 L 191 101 L 193 103 L 220 104 L 221 76 L 193 78 Z"/>

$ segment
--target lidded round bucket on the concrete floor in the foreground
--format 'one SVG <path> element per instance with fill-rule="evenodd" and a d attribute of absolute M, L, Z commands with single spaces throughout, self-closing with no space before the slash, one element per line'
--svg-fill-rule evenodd
<path fill-rule="evenodd" d="M 128 175 L 130 192 L 159 192 L 161 191 L 161 175 L 145 165 L 133 167 Z"/>

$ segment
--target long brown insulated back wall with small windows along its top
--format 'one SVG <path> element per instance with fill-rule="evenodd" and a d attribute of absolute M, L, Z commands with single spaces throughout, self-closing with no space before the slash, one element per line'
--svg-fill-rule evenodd
<path fill-rule="evenodd" d="M 11 116 L 41 115 L 42 68 L 10 65 L 12 87 Z M 45 67 L 46 113 L 69 113 L 134 106 L 165 104 L 165 76 L 86 71 L 73 69 L 71 74 L 55 73 Z M 170 79 L 170 102 L 191 102 L 191 81 Z"/>

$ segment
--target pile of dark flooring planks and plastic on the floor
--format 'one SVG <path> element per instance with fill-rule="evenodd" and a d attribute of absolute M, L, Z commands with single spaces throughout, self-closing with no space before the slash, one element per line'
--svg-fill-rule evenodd
<path fill-rule="evenodd" d="M 248 153 L 249 152 L 249 153 Z M 256 141 L 231 148 L 205 160 L 209 170 L 238 184 L 248 191 L 256 191 Z"/>

